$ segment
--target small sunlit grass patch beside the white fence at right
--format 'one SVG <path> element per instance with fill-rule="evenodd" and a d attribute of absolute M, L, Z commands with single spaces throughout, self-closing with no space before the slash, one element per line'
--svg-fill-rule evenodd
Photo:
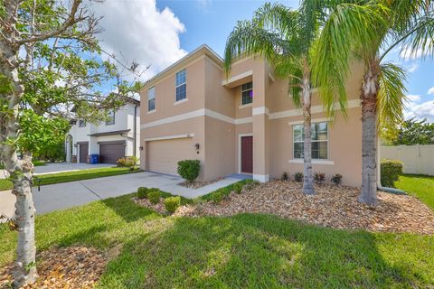
<path fill-rule="evenodd" d="M 434 210 L 434 177 L 418 174 L 404 174 L 395 182 L 398 189 L 407 191 L 410 195 L 418 197 L 429 208 Z"/>

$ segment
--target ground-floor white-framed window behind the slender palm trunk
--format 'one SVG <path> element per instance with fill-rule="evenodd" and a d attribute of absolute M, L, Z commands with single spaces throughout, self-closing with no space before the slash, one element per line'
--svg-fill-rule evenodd
<path fill-rule="evenodd" d="M 328 124 L 327 122 L 314 123 L 311 125 L 312 135 L 312 159 L 328 159 Z M 293 126 L 293 148 L 294 158 L 304 158 L 304 127 L 303 125 Z"/>

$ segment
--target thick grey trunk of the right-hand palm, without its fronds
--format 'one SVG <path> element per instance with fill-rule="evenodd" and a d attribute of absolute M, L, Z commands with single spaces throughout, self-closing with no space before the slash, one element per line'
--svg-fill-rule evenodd
<path fill-rule="evenodd" d="M 359 201 L 377 205 L 378 66 L 366 71 L 362 87 L 362 191 Z"/>

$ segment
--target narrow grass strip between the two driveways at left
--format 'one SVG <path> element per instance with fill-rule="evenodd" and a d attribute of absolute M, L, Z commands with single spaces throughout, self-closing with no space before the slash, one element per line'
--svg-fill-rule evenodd
<path fill-rule="evenodd" d="M 57 172 L 50 174 L 42 174 L 36 176 L 41 179 L 41 185 L 60 183 L 60 182 L 73 182 L 73 181 L 81 181 L 81 180 L 90 180 L 102 177 L 109 177 L 118 174 L 126 174 L 140 172 L 139 170 L 130 171 L 128 168 L 118 168 L 118 167 L 109 167 L 109 168 L 98 168 L 98 169 L 89 169 L 89 170 L 80 170 L 75 172 Z M 37 185 L 37 182 L 35 182 Z M 11 190 L 13 188 L 13 184 L 9 180 L 0 180 L 0 191 Z"/>

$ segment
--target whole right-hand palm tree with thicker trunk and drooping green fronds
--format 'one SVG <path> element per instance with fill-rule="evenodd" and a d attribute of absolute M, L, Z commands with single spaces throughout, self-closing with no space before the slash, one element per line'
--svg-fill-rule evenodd
<path fill-rule="evenodd" d="M 306 0 L 314 2 L 315 0 Z M 313 81 L 329 111 L 335 95 L 346 101 L 344 83 L 350 62 L 364 63 L 361 86 L 363 122 L 362 192 L 359 201 L 375 205 L 377 191 L 377 134 L 391 137 L 401 123 L 405 106 L 406 72 L 385 61 L 394 49 L 434 51 L 432 0 L 320 1 L 327 14 L 312 61 Z M 315 1 L 315 2 L 316 2 Z M 335 4 L 335 5 L 333 5 Z"/>

